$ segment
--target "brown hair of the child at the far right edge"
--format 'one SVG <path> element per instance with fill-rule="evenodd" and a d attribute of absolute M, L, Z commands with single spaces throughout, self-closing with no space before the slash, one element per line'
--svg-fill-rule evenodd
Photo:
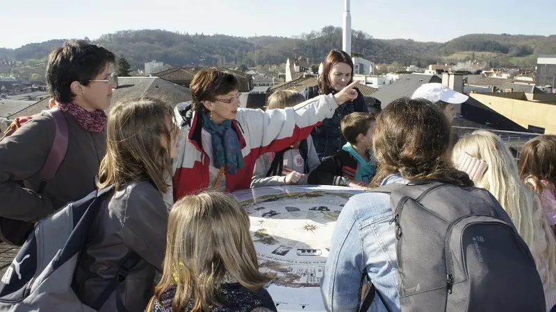
<path fill-rule="evenodd" d="M 525 143 L 518 166 L 521 180 L 531 178 L 534 185 L 527 185 L 536 193 L 544 191 L 542 180 L 551 184 L 551 191 L 556 193 L 556 135 L 541 135 Z"/>

